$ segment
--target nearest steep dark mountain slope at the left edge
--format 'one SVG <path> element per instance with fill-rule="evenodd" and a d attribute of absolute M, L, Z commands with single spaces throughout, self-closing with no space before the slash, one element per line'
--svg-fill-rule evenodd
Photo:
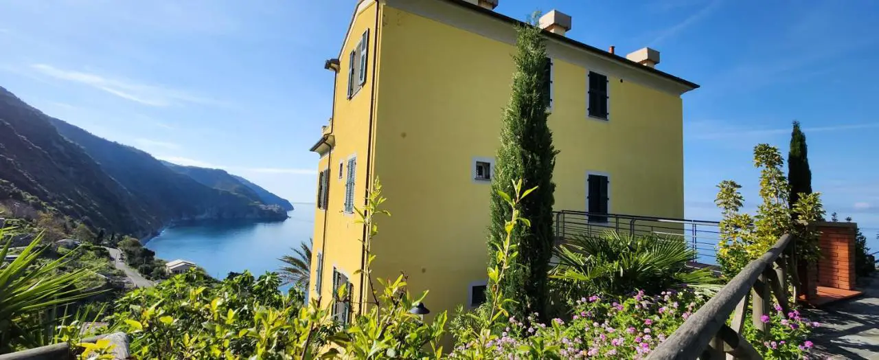
<path fill-rule="evenodd" d="M 0 87 L 0 201 L 52 206 L 92 227 L 137 233 L 159 224 L 49 116 Z"/>

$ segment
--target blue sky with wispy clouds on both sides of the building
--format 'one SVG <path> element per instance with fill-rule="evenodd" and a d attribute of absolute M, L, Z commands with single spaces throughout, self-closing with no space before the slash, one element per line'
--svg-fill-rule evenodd
<path fill-rule="evenodd" d="M 47 114 L 184 165 L 222 167 L 314 199 L 331 72 L 354 0 L 0 0 L 0 85 Z M 844 4 L 844 5 L 843 5 Z M 571 38 L 662 53 L 684 96 L 686 217 L 716 218 L 716 184 L 759 201 L 752 146 L 808 136 L 825 206 L 879 230 L 879 3 L 513 1 L 558 9 Z"/>

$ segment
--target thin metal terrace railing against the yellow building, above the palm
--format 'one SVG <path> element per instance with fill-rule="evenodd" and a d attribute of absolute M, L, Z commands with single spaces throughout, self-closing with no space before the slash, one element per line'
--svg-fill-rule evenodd
<path fill-rule="evenodd" d="M 553 225 L 556 239 L 562 241 L 573 236 L 600 235 L 606 231 L 680 238 L 693 248 L 696 253 L 694 261 L 716 265 L 716 246 L 720 240 L 720 223 L 716 221 L 560 210 L 555 212 Z"/>

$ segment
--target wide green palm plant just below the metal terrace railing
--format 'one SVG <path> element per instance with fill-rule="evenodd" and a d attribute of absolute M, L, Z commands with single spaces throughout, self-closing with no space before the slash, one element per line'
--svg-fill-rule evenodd
<path fill-rule="evenodd" d="M 657 293 L 688 286 L 713 289 L 718 278 L 710 269 L 694 269 L 687 262 L 695 252 L 683 239 L 633 236 L 608 231 L 583 234 L 556 247 L 558 263 L 550 271 L 564 298 L 594 294 L 625 295 L 633 290 Z"/>

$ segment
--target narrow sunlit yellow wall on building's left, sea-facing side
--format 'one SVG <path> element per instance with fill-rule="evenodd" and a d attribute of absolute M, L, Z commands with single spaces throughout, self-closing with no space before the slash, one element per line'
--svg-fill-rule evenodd
<path fill-rule="evenodd" d="M 369 111 L 371 106 L 371 92 L 373 84 L 372 66 L 378 56 L 374 53 L 375 18 L 378 6 L 373 2 L 367 2 L 365 8 L 356 15 L 349 31 L 349 39 L 339 55 L 340 70 L 336 75 L 336 88 L 333 108 L 333 125 L 331 135 L 334 136 L 335 146 L 331 153 L 320 158 L 318 171 L 330 167 L 330 190 L 329 203 L 326 210 L 315 208 L 315 232 L 312 238 L 312 264 L 317 264 L 317 253 L 323 253 L 323 283 L 321 294 L 323 305 L 329 304 L 332 291 L 333 267 L 348 276 L 355 292 L 360 290 L 360 276 L 355 271 L 360 269 L 362 261 L 362 246 L 360 239 L 363 235 L 363 225 L 356 224 L 356 214 L 346 214 L 345 209 L 345 175 L 347 173 L 347 160 L 352 156 L 357 157 L 354 199 L 360 207 L 363 202 L 363 194 L 367 185 L 367 145 L 369 134 Z M 366 84 L 360 92 L 354 94 L 352 99 L 347 99 L 348 86 L 348 54 L 360 41 L 360 36 L 367 29 L 369 33 L 369 56 L 367 58 Z M 355 82 L 357 79 L 355 78 Z M 319 136 L 315 136 L 316 138 Z M 342 164 L 342 176 L 339 177 L 339 164 Z M 324 234 L 325 224 L 325 234 Z M 316 270 L 316 266 L 312 267 Z M 316 298 L 315 292 L 316 271 L 312 270 L 309 280 L 309 292 L 311 298 Z M 359 301 L 359 300 L 355 300 Z"/>

